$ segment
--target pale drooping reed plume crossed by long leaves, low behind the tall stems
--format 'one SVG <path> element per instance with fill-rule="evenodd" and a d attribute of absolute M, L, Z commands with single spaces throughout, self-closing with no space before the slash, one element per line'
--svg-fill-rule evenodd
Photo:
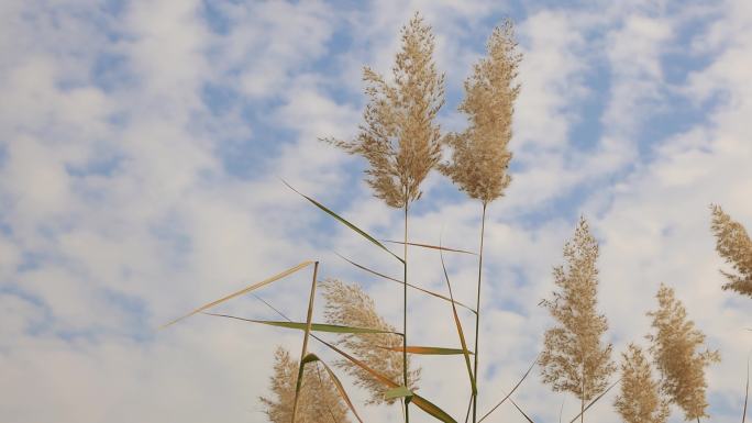
<path fill-rule="evenodd" d="M 357 285 L 346 285 L 336 279 L 329 279 L 321 283 L 327 305 L 324 316 L 330 324 L 356 327 L 378 329 L 394 332 L 376 311 L 374 300 Z M 387 348 L 400 348 L 402 339 L 390 333 L 357 333 L 341 335 L 339 344 L 353 352 L 354 355 L 394 382 L 399 382 L 402 376 L 402 354 Z M 350 360 L 340 360 L 336 366 L 355 377 L 355 385 L 365 388 L 371 397 L 367 404 L 392 404 L 398 399 L 384 399 L 388 387 L 377 381 L 367 371 Z M 410 369 L 408 359 L 408 387 L 417 389 L 420 369 Z"/>

